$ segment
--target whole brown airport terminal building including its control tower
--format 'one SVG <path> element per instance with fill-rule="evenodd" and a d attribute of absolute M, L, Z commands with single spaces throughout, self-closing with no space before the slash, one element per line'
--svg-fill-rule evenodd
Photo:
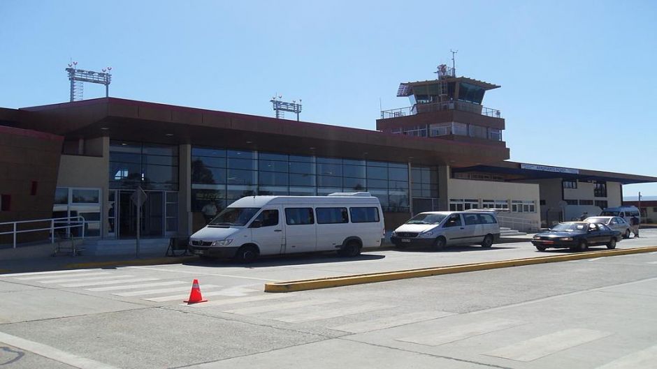
<path fill-rule="evenodd" d="M 376 130 L 120 98 L 0 108 L 0 223 L 84 216 L 87 236 L 131 239 L 140 217 L 141 236 L 165 239 L 244 196 L 368 191 L 387 229 L 421 211 L 496 208 L 535 230 L 657 181 L 507 161 L 505 119 L 482 105 L 498 87 L 449 69 L 402 83 L 412 106 L 381 112 Z"/>

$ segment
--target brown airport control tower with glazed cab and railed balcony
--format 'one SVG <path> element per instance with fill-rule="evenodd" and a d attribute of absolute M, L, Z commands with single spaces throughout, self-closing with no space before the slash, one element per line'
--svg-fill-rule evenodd
<path fill-rule="evenodd" d="M 500 86 L 456 77 L 454 68 L 445 64 L 435 73 L 435 80 L 399 84 L 397 96 L 408 97 L 411 106 L 382 111 L 377 130 L 505 147 L 502 114 L 482 105 L 484 93 Z"/>

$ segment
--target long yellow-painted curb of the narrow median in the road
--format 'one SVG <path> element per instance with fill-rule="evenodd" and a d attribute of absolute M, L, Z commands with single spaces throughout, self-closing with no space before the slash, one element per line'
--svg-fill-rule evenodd
<path fill-rule="evenodd" d="M 385 282 L 387 280 L 439 276 L 441 274 L 463 273 L 468 271 L 484 271 L 488 269 L 508 268 L 510 266 L 565 262 L 568 260 L 589 259 L 591 257 L 617 256 L 617 255 L 628 255 L 628 254 L 638 254 L 638 253 L 653 253 L 655 251 L 657 251 L 657 246 L 649 246 L 644 248 L 626 248 L 621 250 L 591 251 L 588 253 L 577 253 L 577 254 L 568 254 L 568 255 L 529 257 L 526 259 L 511 259 L 511 260 L 502 260 L 498 262 L 484 262 L 484 263 L 474 263 L 474 264 L 438 266 L 434 268 L 408 269 L 403 271 L 389 271 L 384 273 L 354 274 L 351 276 L 317 278 L 317 279 L 308 279 L 308 280 L 292 280 L 289 282 L 266 283 L 265 292 L 305 291 L 307 289 L 361 285 L 364 283 Z"/>

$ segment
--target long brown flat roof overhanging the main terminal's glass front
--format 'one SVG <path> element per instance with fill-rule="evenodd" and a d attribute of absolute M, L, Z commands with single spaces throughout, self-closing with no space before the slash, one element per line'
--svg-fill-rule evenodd
<path fill-rule="evenodd" d="M 121 98 L 25 107 L 20 127 L 72 140 L 112 140 L 252 149 L 456 167 L 509 158 L 505 146 L 409 137 L 376 130 L 180 107 Z"/>

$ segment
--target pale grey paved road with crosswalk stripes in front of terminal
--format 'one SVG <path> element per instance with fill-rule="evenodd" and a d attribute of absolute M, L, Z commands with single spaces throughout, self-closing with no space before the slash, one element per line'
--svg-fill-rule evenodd
<path fill-rule="evenodd" d="M 619 248 L 655 245 L 646 229 Z M 0 275 L 0 368 L 654 367 L 657 253 L 262 292 L 273 280 L 561 253 L 524 242 Z M 194 278 L 209 301 L 187 306 Z"/>

